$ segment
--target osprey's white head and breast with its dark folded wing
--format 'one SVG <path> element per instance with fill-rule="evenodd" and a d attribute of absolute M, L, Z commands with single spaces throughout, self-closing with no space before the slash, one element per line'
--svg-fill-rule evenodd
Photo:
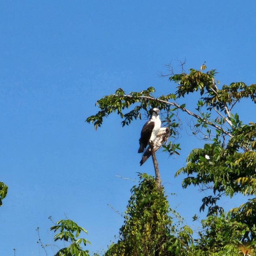
<path fill-rule="evenodd" d="M 161 120 L 158 116 L 160 112 L 158 108 L 150 109 L 150 119 L 144 124 L 139 139 L 138 153 L 143 153 L 148 143 L 154 142 L 161 127 Z"/>

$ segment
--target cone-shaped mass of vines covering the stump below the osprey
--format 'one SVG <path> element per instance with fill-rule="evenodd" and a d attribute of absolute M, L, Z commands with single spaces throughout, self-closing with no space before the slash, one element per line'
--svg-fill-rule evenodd
<path fill-rule="evenodd" d="M 158 191 L 152 176 L 144 173 L 139 177 L 139 186 L 131 189 L 119 241 L 105 255 L 187 255 L 193 241 L 191 228 L 169 208 L 163 188 Z"/>

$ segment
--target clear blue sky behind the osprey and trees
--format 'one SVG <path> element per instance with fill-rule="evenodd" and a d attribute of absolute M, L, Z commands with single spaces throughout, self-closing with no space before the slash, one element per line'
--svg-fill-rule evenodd
<path fill-rule="evenodd" d="M 139 167 L 138 139 L 145 121 L 122 128 L 119 117 L 102 128 L 85 123 L 95 102 L 119 87 L 126 92 L 174 85 L 164 64 L 186 58 L 186 69 L 206 61 L 221 84 L 256 82 L 255 1 L 2 1 L 0 8 L 0 181 L 9 191 L 0 209 L 1 255 L 45 255 L 49 231 L 64 213 L 88 231 L 92 251 L 106 249 L 123 223 Z M 193 98 L 192 98 L 193 99 Z M 184 103 L 184 102 L 181 102 Z M 187 99 L 188 106 L 193 102 Z M 255 121 L 243 102 L 241 120 Z M 184 135 L 179 157 L 158 153 L 171 207 L 187 219 L 199 212 L 202 193 L 182 189 L 175 172 L 202 141 Z M 244 202 L 224 198 L 230 209 Z M 203 215 L 202 215 L 203 216 Z M 61 245 L 62 246 L 62 245 Z M 56 247 L 47 247 L 48 255 Z"/>

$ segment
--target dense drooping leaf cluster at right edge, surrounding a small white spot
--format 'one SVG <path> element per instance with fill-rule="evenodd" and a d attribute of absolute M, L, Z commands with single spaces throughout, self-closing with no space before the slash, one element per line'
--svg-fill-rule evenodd
<path fill-rule="evenodd" d="M 232 137 L 226 147 L 215 139 L 212 144 L 206 143 L 204 148 L 195 148 L 187 158 L 185 167 L 180 173 L 188 176 L 182 186 L 202 185 L 212 186 L 213 193 L 223 193 L 233 197 L 235 193 L 243 195 L 256 195 L 256 124 L 242 125 L 232 130 Z M 243 152 L 243 149 L 246 151 Z M 209 156 L 210 159 L 206 159 Z M 194 175 L 193 175 L 194 174 Z M 203 198 L 203 205 L 213 205 L 220 196 Z M 210 214 L 213 212 L 210 211 Z"/>

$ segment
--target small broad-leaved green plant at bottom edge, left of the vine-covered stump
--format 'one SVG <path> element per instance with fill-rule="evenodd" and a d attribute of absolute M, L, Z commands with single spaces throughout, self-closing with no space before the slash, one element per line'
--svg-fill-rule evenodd
<path fill-rule="evenodd" d="M 91 243 L 84 239 L 78 238 L 79 234 L 83 231 L 87 234 L 87 231 L 78 226 L 74 221 L 70 219 L 60 220 L 55 226 L 52 226 L 50 230 L 60 231 L 54 236 L 54 241 L 64 240 L 68 241 L 70 245 L 63 249 L 60 249 L 54 256 L 89 256 L 89 250 L 83 250 L 80 246 L 82 243 L 86 246 L 87 243 Z M 75 235 L 74 235 L 75 234 Z"/>

